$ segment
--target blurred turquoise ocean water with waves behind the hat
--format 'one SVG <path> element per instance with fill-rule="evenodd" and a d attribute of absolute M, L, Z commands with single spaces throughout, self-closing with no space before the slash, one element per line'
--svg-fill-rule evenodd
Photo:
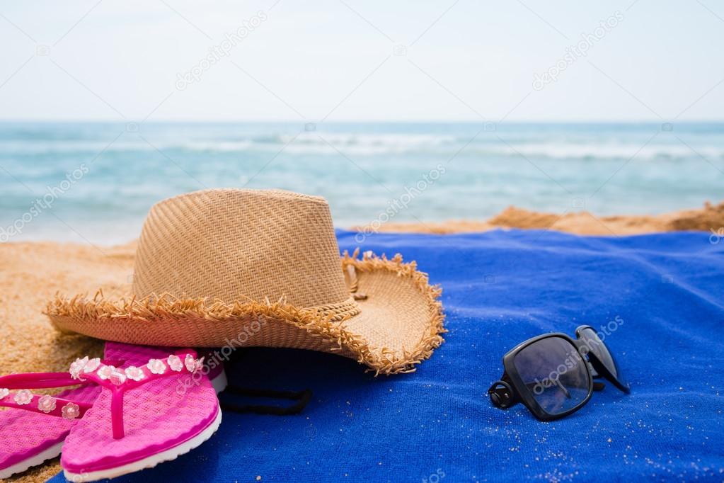
<path fill-rule="evenodd" d="M 724 124 L 0 123 L 0 241 L 123 243 L 216 187 L 324 196 L 339 227 L 657 214 L 724 199 Z"/>

